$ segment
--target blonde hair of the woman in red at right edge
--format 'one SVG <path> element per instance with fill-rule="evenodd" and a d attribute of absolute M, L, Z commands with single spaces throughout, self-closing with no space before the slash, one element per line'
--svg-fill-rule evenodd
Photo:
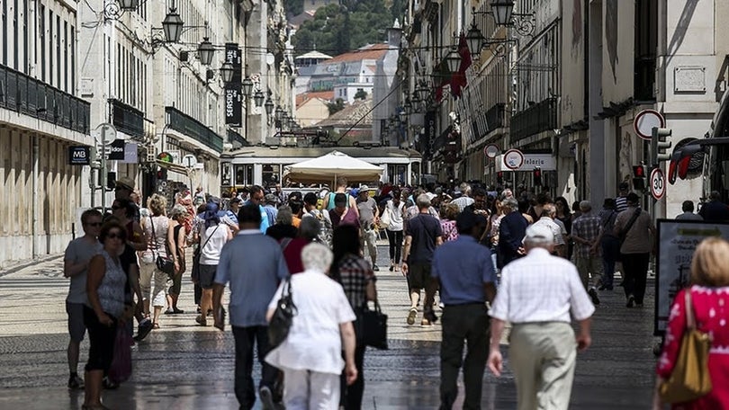
<path fill-rule="evenodd" d="M 691 283 L 709 287 L 729 286 L 729 242 L 709 237 L 698 244 L 691 261 Z"/>

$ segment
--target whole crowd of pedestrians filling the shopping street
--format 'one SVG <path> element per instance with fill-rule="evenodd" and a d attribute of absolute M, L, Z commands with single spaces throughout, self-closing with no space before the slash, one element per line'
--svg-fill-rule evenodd
<path fill-rule="evenodd" d="M 593 209 L 590 201 L 571 207 L 563 197 L 523 189 L 469 183 L 381 183 L 370 189 L 339 178 L 331 192 L 286 194 L 279 184 L 270 191 L 255 185 L 222 198 L 181 192 L 175 204 L 153 194 L 140 208 L 133 181 L 121 178 L 111 214 L 85 211 L 85 236 L 68 245 L 64 258 L 71 279 L 68 388 L 85 388 L 83 408 L 106 408 L 102 389 L 125 380 L 115 369 L 115 350 L 128 347 L 120 346 L 126 340 L 121 336 L 131 336 L 136 320 L 130 343 L 141 343 L 165 325 L 164 315 L 184 314 L 177 305 L 187 273 L 197 306 L 194 323 L 211 321 L 223 330 L 229 319 L 240 408 L 252 408 L 257 397 L 266 409 L 361 408 L 363 317 L 377 302 L 375 272 L 385 269 L 376 263 L 377 241 L 386 239 L 387 269 L 407 283 L 404 323 L 415 325 L 419 314 L 421 326 L 442 321 L 441 408 L 454 406 L 461 368 L 464 408 L 481 408 L 483 373 L 486 367 L 502 373 L 500 343 L 510 326 L 518 408 L 566 409 L 577 352 L 591 344 L 599 291 L 612 291 L 615 272 L 621 272 L 617 286 L 624 288 L 626 307 L 644 307 L 655 227 L 640 197 L 626 183 L 618 190 L 615 199 Z M 704 218 L 729 219 L 719 215 L 729 209 L 718 204 L 702 210 Z M 677 218 L 702 218 L 691 201 L 683 211 Z M 192 258 L 186 257 L 188 247 Z M 692 267 L 697 303 L 705 294 L 729 294 L 729 275 L 720 268 Z M 707 297 L 705 305 L 713 304 L 718 317 L 729 316 L 724 299 L 715 299 Z M 269 323 L 280 317 L 282 304 L 294 316 L 283 342 L 274 343 Z M 677 298 L 676 315 L 682 307 Z M 703 307 L 697 305 L 698 319 L 710 315 Z M 672 342 L 685 327 L 673 319 L 672 311 L 672 338 L 659 364 L 663 379 L 677 355 Z M 713 332 L 725 332 L 724 324 L 713 325 L 721 327 Z M 86 331 L 91 348 L 81 379 L 76 368 Z M 716 349 L 725 354 L 725 347 Z M 262 368 L 257 386 L 254 351 Z M 712 377 L 726 379 L 726 368 L 715 365 Z M 707 403 L 729 401 L 715 396 Z"/>

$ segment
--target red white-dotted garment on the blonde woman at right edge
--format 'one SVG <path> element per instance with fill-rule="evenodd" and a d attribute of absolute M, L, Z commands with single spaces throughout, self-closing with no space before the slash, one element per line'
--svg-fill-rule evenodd
<path fill-rule="evenodd" d="M 671 377 L 671 371 L 679 355 L 681 336 L 686 329 L 686 299 L 680 290 L 674 299 L 666 329 L 663 352 L 656 372 L 663 379 Z M 697 328 L 712 336 L 709 352 L 709 374 L 712 391 L 704 397 L 687 403 L 673 405 L 673 409 L 729 409 L 729 287 L 691 287 L 691 300 Z"/>

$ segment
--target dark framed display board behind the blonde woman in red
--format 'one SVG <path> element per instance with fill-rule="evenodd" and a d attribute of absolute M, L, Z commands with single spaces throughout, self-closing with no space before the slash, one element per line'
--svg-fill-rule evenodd
<path fill-rule="evenodd" d="M 666 331 L 673 298 L 689 284 L 696 247 L 707 237 L 729 239 L 729 223 L 658 219 L 657 228 L 653 334 L 659 336 Z"/>

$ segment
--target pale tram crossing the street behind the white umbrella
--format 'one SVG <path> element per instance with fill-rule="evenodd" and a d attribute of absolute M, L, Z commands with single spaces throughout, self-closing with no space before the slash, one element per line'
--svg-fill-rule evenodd
<path fill-rule="evenodd" d="M 236 191 L 251 185 L 265 188 L 281 183 L 285 189 L 305 188 L 284 180 L 284 169 L 312 158 L 339 151 L 383 168 L 381 181 L 361 183 L 420 182 L 422 156 L 413 149 L 398 147 L 241 147 L 220 156 L 220 192 Z M 318 186 L 317 186 L 318 187 Z M 314 188 L 314 187 L 310 187 Z"/>

